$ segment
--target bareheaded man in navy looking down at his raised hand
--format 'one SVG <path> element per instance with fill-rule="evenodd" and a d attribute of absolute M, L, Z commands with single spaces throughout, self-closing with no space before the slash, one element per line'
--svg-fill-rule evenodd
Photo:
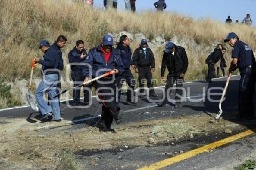
<path fill-rule="evenodd" d="M 76 41 L 76 46 L 68 53 L 68 61 L 71 64 L 71 78 L 74 82 L 74 87 L 81 84 L 84 80 L 83 71 L 85 68 L 85 59 L 87 57 L 87 52 L 84 48 L 84 42 L 82 40 Z M 86 85 L 86 89 L 83 90 L 84 93 L 84 104 L 80 102 L 80 91 L 81 88 L 73 90 L 73 105 L 88 105 L 89 104 L 89 89 L 91 85 Z"/>

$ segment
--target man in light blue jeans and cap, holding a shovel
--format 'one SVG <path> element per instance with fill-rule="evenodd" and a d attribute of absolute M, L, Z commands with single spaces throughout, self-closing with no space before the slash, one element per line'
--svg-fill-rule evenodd
<path fill-rule="evenodd" d="M 58 53 L 50 48 L 50 44 L 47 40 L 42 40 L 39 43 L 39 49 L 44 53 L 42 59 L 35 58 L 36 63 L 42 65 L 43 79 L 36 89 L 35 97 L 38 108 L 42 114 L 40 120 L 48 118 L 52 121 L 61 121 L 60 105 L 58 103 L 58 97 L 56 95 L 56 86 L 59 81 L 59 56 Z M 45 101 L 45 93 L 48 93 L 50 99 L 50 106 Z"/>

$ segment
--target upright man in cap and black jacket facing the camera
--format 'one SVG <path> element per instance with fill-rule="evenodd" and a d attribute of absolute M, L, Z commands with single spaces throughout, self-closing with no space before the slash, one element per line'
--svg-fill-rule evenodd
<path fill-rule="evenodd" d="M 157 97 L 152 82 L 152 72 L 155 72 L 155 58 L 146 39 L 142 39 L 139 48 L 134 51 L 133 65 L 136 67 L 136 72 L 139 73 L 139 92 L 144 93 L 144 79 L 146 78 L 149 97 Z M 139 95 L 139 97 L 143 96 L 145 95 Z"/>

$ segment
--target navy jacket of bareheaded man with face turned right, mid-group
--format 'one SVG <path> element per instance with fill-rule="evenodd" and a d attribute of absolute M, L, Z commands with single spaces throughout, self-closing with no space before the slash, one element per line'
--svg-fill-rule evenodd
<path fill-rule="evenodd" d="M 132 61 L 132 49 L 130 47 L 123 46 L 122 43 L 117 44 L 117 48 L 115 49 L 117 53 L 120 53 L 122 63 L 124 65 L 124 70 L 127 70 L 130 68 L 130 66 L 133 64 Z"/>

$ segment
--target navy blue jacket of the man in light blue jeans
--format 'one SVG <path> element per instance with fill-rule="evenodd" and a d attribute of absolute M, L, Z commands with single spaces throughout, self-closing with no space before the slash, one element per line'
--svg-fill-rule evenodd
<path fill-rule="evenodd" d="M 47 69 L 58 69 L 59 67 L 59 56 L 58 53 L 49 48 L 45 51 L 45 55 L 43 56 L 43 59 L 39 61 L 40 64 L 42 64 L 42 73 L 43 71 Z M 45 74 L 56 74 L 58 71 L 47 71 Z"/>

